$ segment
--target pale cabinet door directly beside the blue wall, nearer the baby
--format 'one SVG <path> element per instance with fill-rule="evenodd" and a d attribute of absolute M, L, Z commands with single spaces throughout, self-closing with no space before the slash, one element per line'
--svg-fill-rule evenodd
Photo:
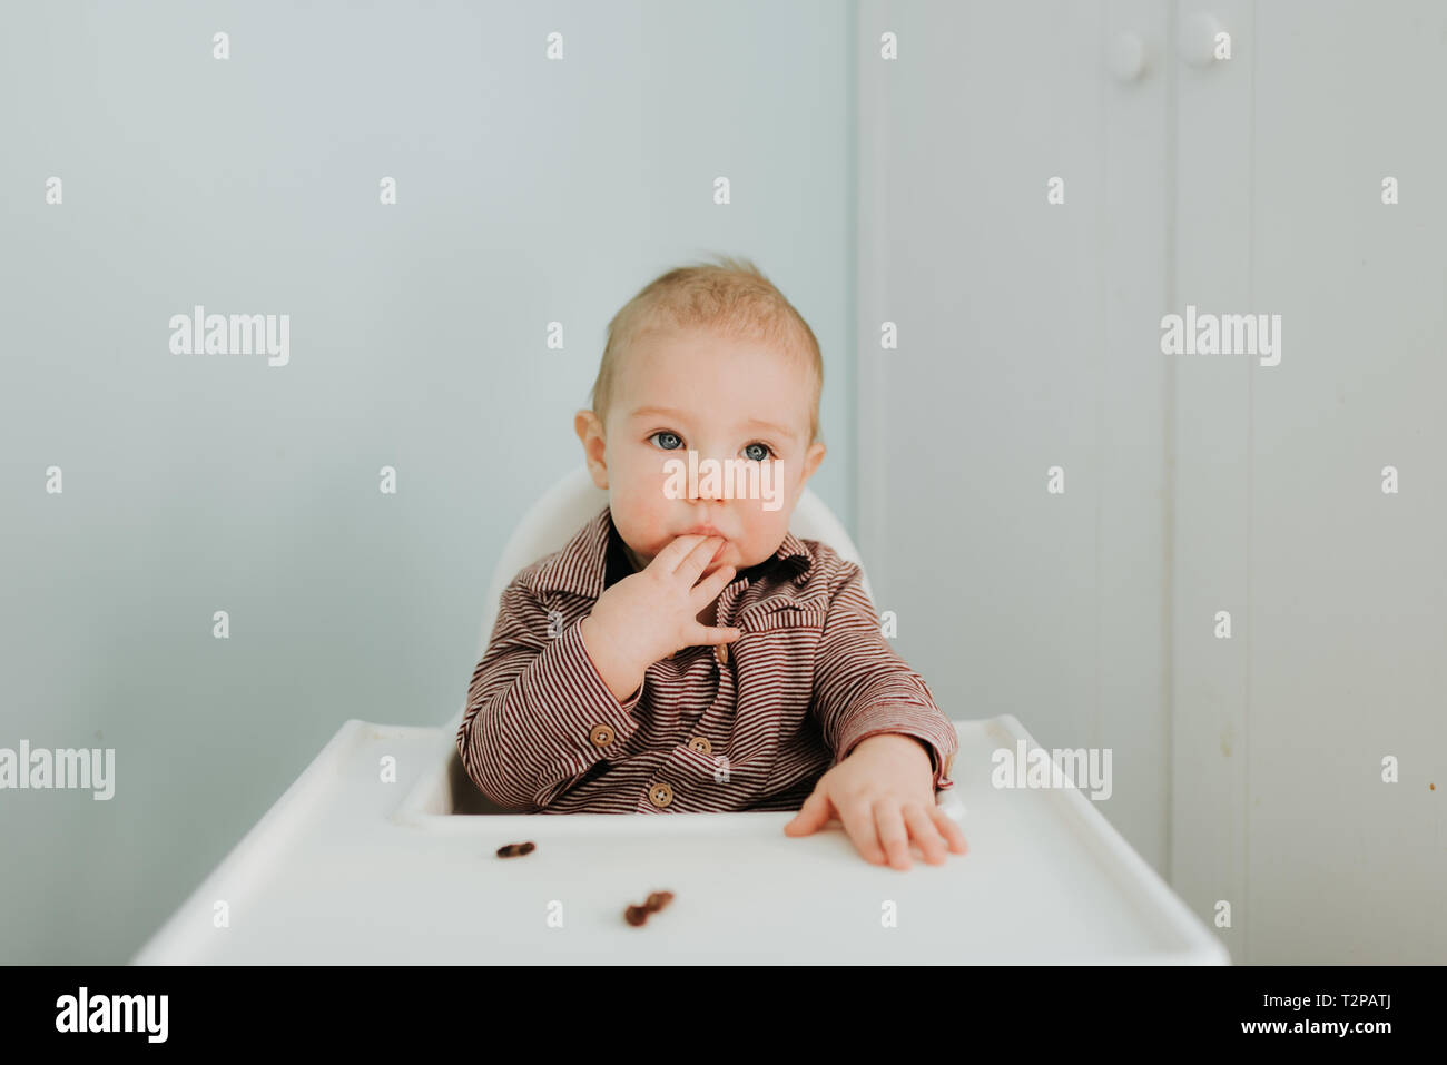
<path fill-rule="evenodd" d="M 1048 748 L 1108 748 L 1098 809 L 1162 874 L 1169 16 L 865 1 L 857 55 L 875 606 L 952 718 L 1013 713 Z"/>

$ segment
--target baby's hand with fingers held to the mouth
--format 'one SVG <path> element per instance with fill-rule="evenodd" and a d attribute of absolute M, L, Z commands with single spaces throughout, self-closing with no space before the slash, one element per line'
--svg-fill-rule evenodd
<path fill-rule="evenodd" d="M 737 628 L 699 622 L 699 614 L 734 579 L 734 567 L 721 566 L 699 580 L 722 544 L 722 537 L 677 537 L 648 569 L 624 577 L 598 598 L 587 618 L 589 632 L 605 632 L 616 653 L 640 671 L 684 647 L 738 640 L 742 632 Z"/>

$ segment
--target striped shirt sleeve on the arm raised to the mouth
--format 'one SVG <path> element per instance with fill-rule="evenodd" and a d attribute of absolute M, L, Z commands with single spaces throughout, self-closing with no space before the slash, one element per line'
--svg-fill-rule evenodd
<path fill-rule="evenodd" d="M 457 729 L 467 777 L 508 810 L 537 813 L 637 729 L 629 712 L 647 680 L 619 703 L 574 621 L 550 635 L 544 603 L 514 580 L 473 671 Z"/>

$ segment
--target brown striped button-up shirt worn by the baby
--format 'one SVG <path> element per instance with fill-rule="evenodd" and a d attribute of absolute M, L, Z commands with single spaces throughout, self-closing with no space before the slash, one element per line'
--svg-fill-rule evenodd
<path fill-rule="evenodd" d="M 738 572 L 718 622 L 726 650 L 686 647 L 627 702 L 579 622 L 632 573 L 605 506 L 504 590 L 473 671 L 457 750 L 488 799 L 527 813 L 797 810 L 861 739 L 917 738 L 936 790 L 954 786 L 955 726 L 880 634 L 861 570 L 789 532 Z"/>

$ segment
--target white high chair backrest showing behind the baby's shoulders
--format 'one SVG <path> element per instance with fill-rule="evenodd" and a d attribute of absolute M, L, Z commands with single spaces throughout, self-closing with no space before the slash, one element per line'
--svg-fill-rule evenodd
<path fill-rule="evenodd" d="M 498 564 L 492 572 L 492 583 L 488 587 L 488 598 L 482 606 L 479 660 L 486 653 L 488 641 L 492 638 L 492 627 L 498 619 L 498 601 L 502 598 L 502 589 L 525 566 L 553 554 L 553 551 L 567 544 L 606 505 L 608 491 L 598 488 L 589 476 L 587 469 L 582 466 L 566 475 L 541 499 L 532 504 L 532 509 L 512 530 L 512 535 L 502 548 L 502 557 L 498 559 Z M 833 517 L 833 511 L 812 489 L 805 488 L 803 495 L 799 496 L 799 505 L 794 506 L 789 531 L 802 540 L 819 540 L 832 547 L 845 561 L 855 563 L 861 570 L 864 590 L 868 593 L 870 602 L 874 602 L 870 574 L 862 573 L 864 561 L 860 559 L 860 551 L 854 547 L 854 541 L 849 540 L 849 534 L 844 531 L 844 525 Z"/>

